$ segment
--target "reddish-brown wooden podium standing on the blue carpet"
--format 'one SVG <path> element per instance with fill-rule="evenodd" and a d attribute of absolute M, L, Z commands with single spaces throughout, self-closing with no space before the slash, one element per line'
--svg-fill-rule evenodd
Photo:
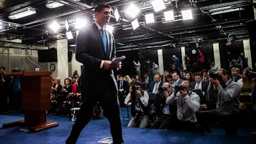
<path fill-rule="evenodd" d="M 57 122 L 47 122 L 46 110 L 50 109 L 52 86 L 51 71 L 11 72 L 4 77 L 20 77 L 21 106 L 24 120 L 3 124 L 3 128 L 28 126 L 31 132 L 56 127 Z"/>

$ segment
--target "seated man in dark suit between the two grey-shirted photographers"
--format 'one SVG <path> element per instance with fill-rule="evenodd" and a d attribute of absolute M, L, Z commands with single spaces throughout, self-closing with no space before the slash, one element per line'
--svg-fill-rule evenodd
<path fill-rule="evenodd" d="M 206 103 L 206 95 L 207 95 L 207 87 L 208 87 L 209 83 L 206 81 L 202 81 L 202 74 L 200 72 L 195 72 L 194 76 L 195 76 L 195 81 L 193 81 L 191 83 L 192 91 L 194 90 L 200 96 L 200 99 L 201 99 L 200 103 L 205 104 Z"/>

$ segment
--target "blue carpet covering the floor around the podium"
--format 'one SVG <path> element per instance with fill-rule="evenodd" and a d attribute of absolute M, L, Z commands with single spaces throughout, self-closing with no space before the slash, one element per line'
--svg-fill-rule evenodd
<path fill-rule="evenodd" d="M 22 120 L 22 114 L 14 115 L 0 115 L 0 125 L 16 120 Z M 131 115 L 130 115 L 131 116 Z M 165 131 L 157 129 L 140 129 L 133 127 L 126 127 L 129 120 L 127 120 L 127 112 L 122 109 L 122 125 L 123 136 L 126 144 L 198 144 L 198 143 L 255 143 L 256 138 L 250 137 L 249 131 L 239 129 L 239 136 L 225 136 L 223 129 L 214 129 L 214 134 L 203 134 L 199 132 L 182 132 L 182 131 Z M 38 132 L 19 131 L 21 126 L 10 127 L 7 129 L 0 129 L 0 143 L 2 144 L 59 144 L 65 143 L 68 134 L 71 131 L 73 122 L 69 121 L 66 116 L 54 116 L 50 118 L 47 116 L 47 121 L 58 122 L 58 127 L 52 127 Z M 221 133 L 221 132 L 222 133 Z M 215 133 L 218 132 L 218 133 Z M 244 134 L 244 132 L 248 132 Z M 240 133 L 243 133 L 240 135 Z M 88 143 L 96 144 L 98 140 L 110 136 L 109 123 L 107 119 L 91 120 L 83 129 L 77 144 Z"/>

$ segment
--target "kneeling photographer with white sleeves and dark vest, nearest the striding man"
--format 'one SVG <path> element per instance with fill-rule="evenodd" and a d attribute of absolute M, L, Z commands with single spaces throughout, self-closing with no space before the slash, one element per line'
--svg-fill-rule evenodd
<path fill-rule="evenodd" d="M 145 128 L 148 126 L 148 93 L 141 90 L 142 83 L 134 83 L 124 100 L 125 104 L 131 102 L 132 119 L 127 127 Z"/>

